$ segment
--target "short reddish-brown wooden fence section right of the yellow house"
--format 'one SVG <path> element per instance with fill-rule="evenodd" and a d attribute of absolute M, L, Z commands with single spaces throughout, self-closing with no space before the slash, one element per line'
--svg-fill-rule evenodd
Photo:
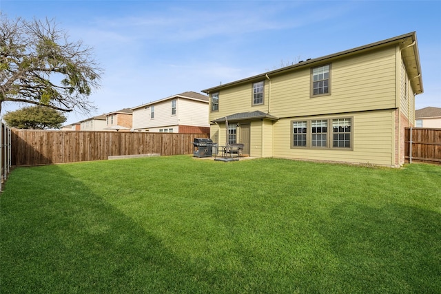
<path fill-rule="evenodd" d="M 406 162 L 429 162 L 441 165 L 441 129 L 407 127 L 405 132 Z"/>

